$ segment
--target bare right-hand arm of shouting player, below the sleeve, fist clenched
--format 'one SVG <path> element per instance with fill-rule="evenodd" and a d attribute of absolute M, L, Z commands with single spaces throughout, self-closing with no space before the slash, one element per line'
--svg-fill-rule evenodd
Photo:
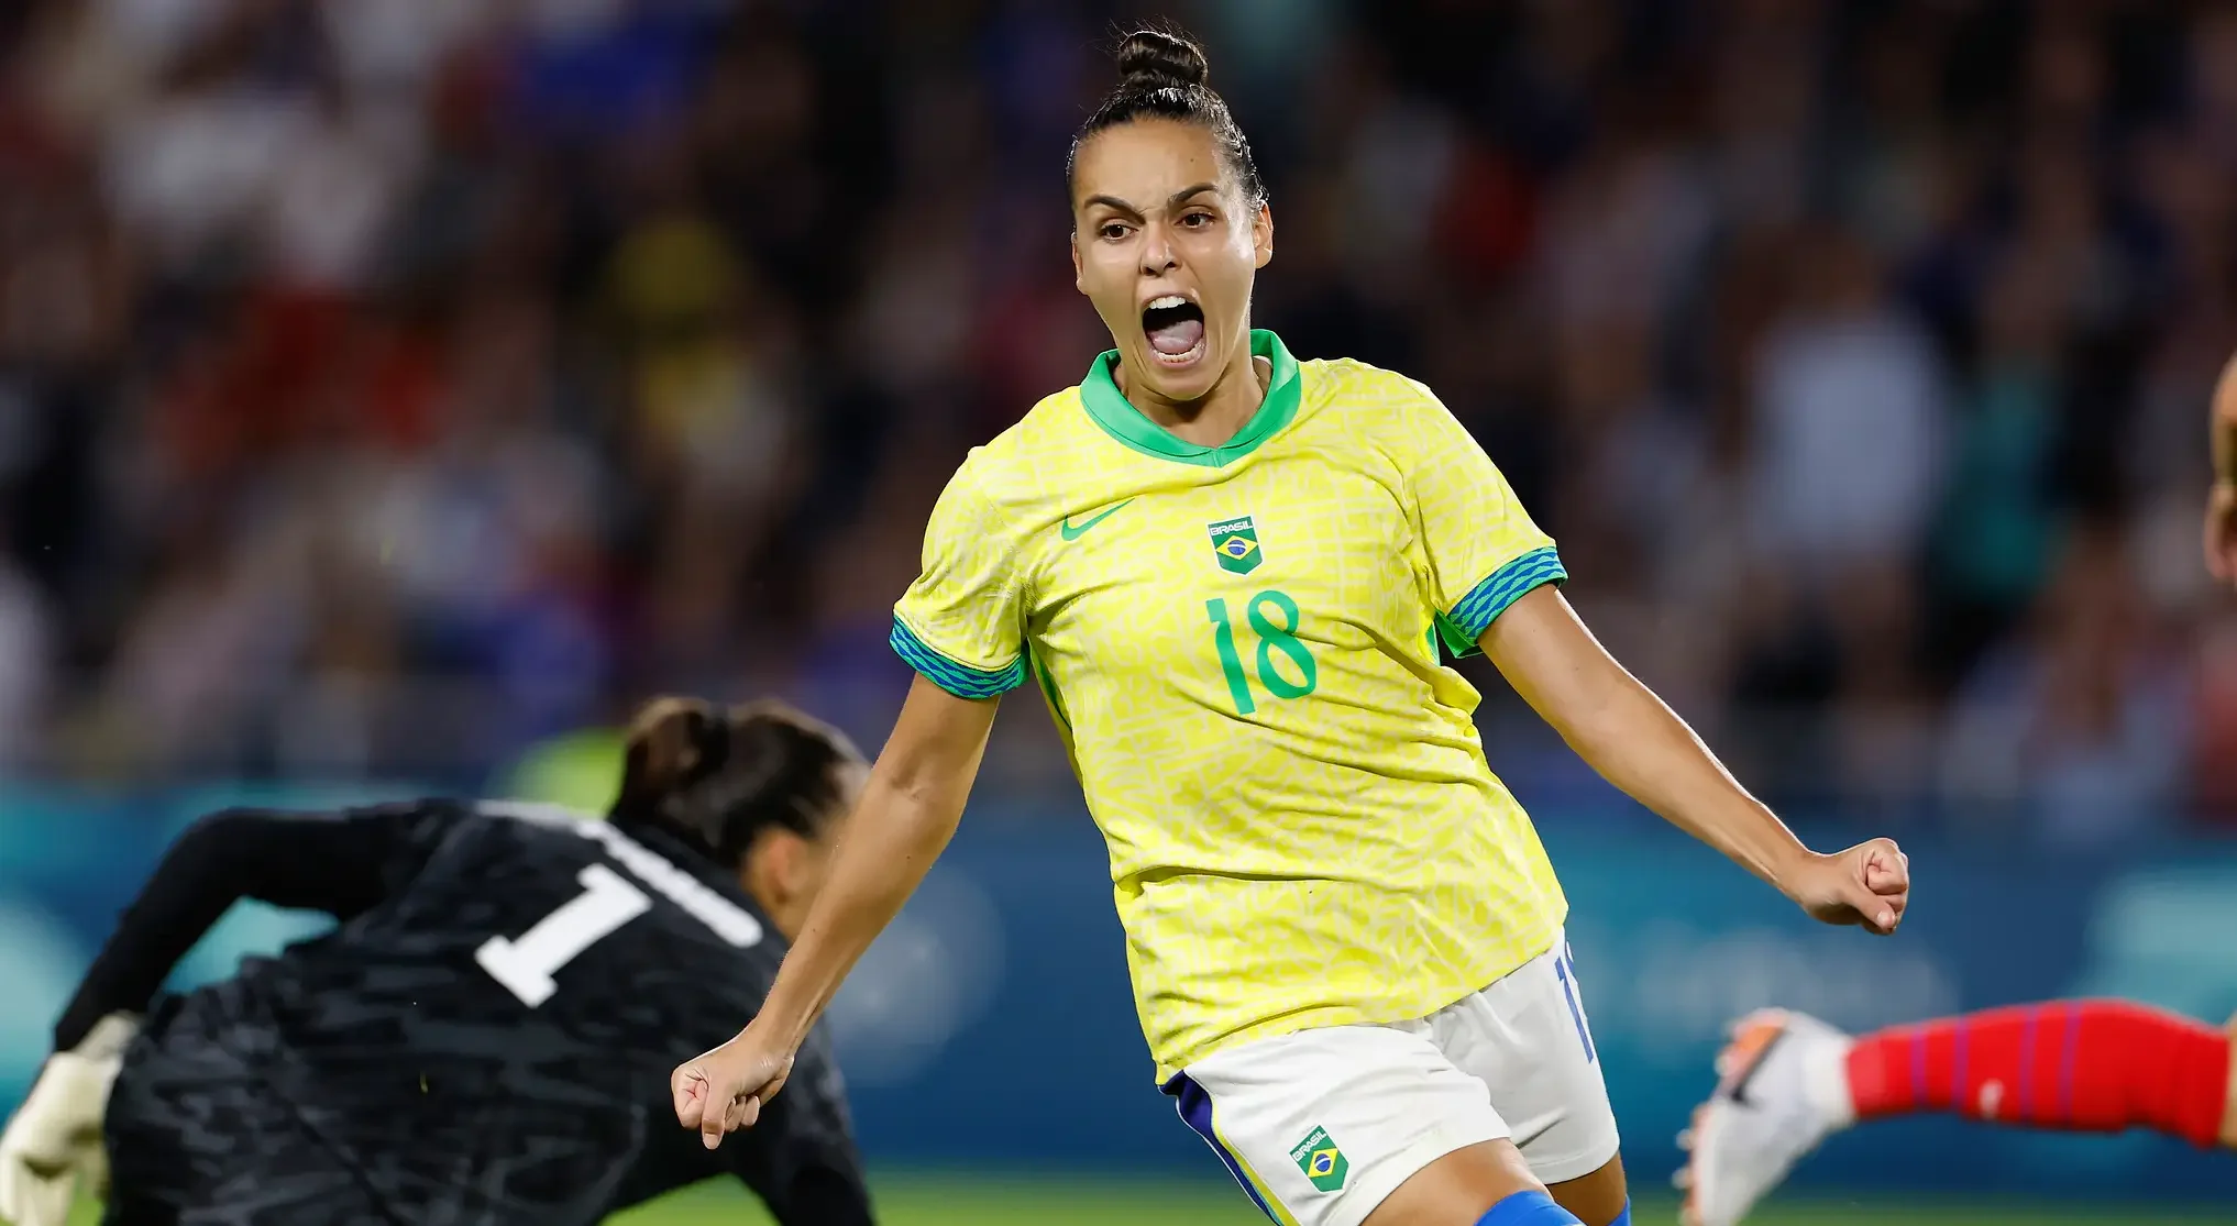
<path fill-rule="evenodd" d="M 1828 924 L 1893 933 L 1910 902 L 1910 864 L 1890 839 L 1816 855 L 1725 770 L 1662 698 L 1539 586 L 1481 638 L 1508 685 L 1577 756 L 1642 805 L 1725 852 Z"/>

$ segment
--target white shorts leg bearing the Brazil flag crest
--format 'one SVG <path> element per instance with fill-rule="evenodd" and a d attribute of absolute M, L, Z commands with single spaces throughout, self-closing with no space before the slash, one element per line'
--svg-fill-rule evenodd
<path fill-rule="evenodd" d="M 1244 1043 L 1165 1090 L 1250 1199 L 1295 1226 L 1360 1226 L 1429 1163 L 1508 1137 L 1420 1022 Z"/>

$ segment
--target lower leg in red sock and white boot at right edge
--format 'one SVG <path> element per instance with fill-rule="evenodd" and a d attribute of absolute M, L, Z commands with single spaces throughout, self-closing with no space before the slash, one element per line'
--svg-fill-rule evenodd
<path fill-rule="evenodd" d="M 1828 1134 L 1957 1114 L 2045 1132 L 2150 1128 L 2237 1150 L 2237 1063 L 2215 1029 L 2130 1000 L 2056 1000 L 1850 1038 L 1805 1013 L 1743 1018 L 1716 1096 L 1680 1137 L 1687 1226 L 1734 1226 Z"/>

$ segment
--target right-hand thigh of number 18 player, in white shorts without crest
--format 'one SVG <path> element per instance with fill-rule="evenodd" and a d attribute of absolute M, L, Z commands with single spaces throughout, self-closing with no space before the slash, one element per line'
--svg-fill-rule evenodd
<path fill-rule="evenodd" d="M 1481 993 L 1441 1009 L 1429 1027 L 1454 1067 L 1490 1087 L 1514 1148 L 1557 1197 L 1564 1183 L 1595 1201 L 1611 1186 L 1622 1192 L 1622 1163 L 1611 1170 L 1620 1150 L 1615 1110 L 1568 942 L 1557 940 Z"/>

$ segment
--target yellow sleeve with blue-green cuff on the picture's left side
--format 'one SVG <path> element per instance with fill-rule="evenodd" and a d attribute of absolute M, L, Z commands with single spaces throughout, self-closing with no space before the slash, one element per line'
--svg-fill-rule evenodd
<path fill-rule="evenodd" d="M 893 609 L 893 649 L 957 698 L 1025 685 L 1016 530 L 973 481 L 948 479 L 924 528 L 924 573 Z"/>

